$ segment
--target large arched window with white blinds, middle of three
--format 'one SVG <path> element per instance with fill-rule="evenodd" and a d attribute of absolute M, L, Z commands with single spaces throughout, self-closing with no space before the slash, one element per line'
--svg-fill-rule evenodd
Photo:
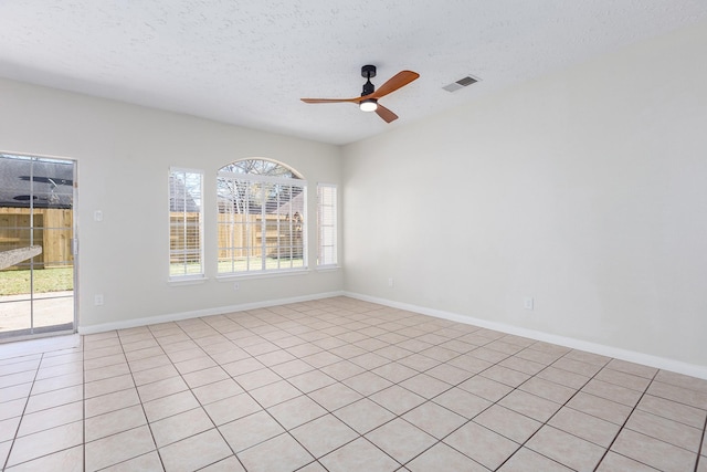
<path fill-rule="evenodd" d="M 219 170 L 220 275 L 307 266 L 307 186 L 292 169 L 244 159 Z"/>

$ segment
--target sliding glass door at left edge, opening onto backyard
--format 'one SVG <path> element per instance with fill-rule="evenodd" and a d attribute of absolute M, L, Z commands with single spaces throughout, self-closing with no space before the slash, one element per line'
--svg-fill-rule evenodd
<path fill-rule="evenodd" d="M 0 340 L 75 331 L 75 176 L 73 160 L 0 153 Z"/>

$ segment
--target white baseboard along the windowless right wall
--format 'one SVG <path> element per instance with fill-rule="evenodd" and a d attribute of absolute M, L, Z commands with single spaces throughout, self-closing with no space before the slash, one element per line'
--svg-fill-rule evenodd
<path fill-rule="evenodd" d="M 603 344 L 590 343 L 587 340 L 576 339 L 571 337 L 558 336 L 553 334 L 542 333 L 534 329 L 527 329 L 519 326 L 508 325 L 505 323 L 490 322 L 488 319 L 474 318 L 472 316 L 460 315 L 457 313 L 444 312 L 441 310 L 428 308 L 424 306 L 411 305 L 408 303 L 394 302 L 387 298 L 362 295 L 359 293 L 344 292 L 345 296 L 362 300 L 365 302 L 378 303 L 379 305 L 390 306 L 392 308 L 405 310 L 423 315 L 434 316 L 437 318 L 449 319 L 452 322 L 464 323 L 467 325 L 479 326 L 483 328 L 495 329 L 502 333 L 514 334 L 517 336 L 528 337 L 530 339 L 542 340 L 546 343 L 557 344 L 572 349 L 585 350 L 588 353 L 599 354 L 602 356 L 613 357 L 635 364 L 655 367 L 658 369 L 672 370 L 674 373 L 684 374 L 692 377 L 707 379 L 707 366 L 683 363 L 666 357 L 653 356 L 650 354 L 637 353 L 634 350 L 622 349 Z"/>

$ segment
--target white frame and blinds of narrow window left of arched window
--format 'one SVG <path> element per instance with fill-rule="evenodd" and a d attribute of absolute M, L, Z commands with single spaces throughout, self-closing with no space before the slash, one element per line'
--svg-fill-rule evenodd
<path fill-rule="evenodd" d="M 181 176 L 183 178 L 182 181 L 184 181 L 188 177 L 187 176 L 192 176 L 191 178 L 196 178 L 198 177 L 199 182 L 198 182 L 198 191 L 199 195 L 197 196 L 197 201 L 193 202 L 193 204 L 197 204 L 197 211 L 188 211 L 188 207 L 189 207 L 189 201 L 188 198 L 193 199 L 193 195 L 187 192 L 187 187 L 184 186 L 183 191 L 181 192 L 182 195 L 176 195 L 173 192 L 175 190 L 175 185 L 173 185 L 173 178 Z M 169 186 L 169 199 L 168 199 L 168 204 L 167 204 L 167 211 L 169 214 L 169 231 L 168 231 L 168 237 L 169 237 L 169 258 L 168 258 L 168 274 L 169 274 L 169 281 L 173 282 L 173 281 L 190 281 L 190 280 L 201 280 L 204 279 L 204 238 L 203 238 L 203 180 L 204 180 L 204 172 L 203 170 L 200 169 L 189 169 L 189 168 L 183 168 L 183 167 L 170 167 L 169 168 L 169 178 L 168 178 L 168 186 Z M 176 204 L 173 203 L 173 199 L 176 198 L 182 198 L 183 200 L 181 201 L 181 204 Z M 179 209 L 175 209 L 175 207 L 179 208 Z M 178 213 L 181 212 L 183 218 L 180 222 L 173 222 L 172 221 L 172 213 Z M 190 223 L 187 214 L 188 213 L 197 213 L 197 223 Z M 193 230 L 197 230 L 197 238 L 198 238 L 198 248 L 178 248 L 178 249 L 173 249 L 172 248 L 172 230 L 177 229 L 179 230 L 179 232 L 181 233 L 181 237 L 183 238 L 183 241 L 187 241 L 188 237 L 190 235 L 189 233 L 191 232 L 191 237 L 193 237 Z M 183 260 L 183 262 L 180 264 L 178 263 L 173 263 L 172 259 L 177 256 L 178 259 L 181 258 Z M 194 271 L 194 262 L 189 262 L 189 260 L 191 258 L 198 258 L 198 261 L 196 262 L 198 264 L 198 270 Z M 179 268 L 181 265 L 182 270 L 177 270 L 175 271 L 175 269 Z"/>

